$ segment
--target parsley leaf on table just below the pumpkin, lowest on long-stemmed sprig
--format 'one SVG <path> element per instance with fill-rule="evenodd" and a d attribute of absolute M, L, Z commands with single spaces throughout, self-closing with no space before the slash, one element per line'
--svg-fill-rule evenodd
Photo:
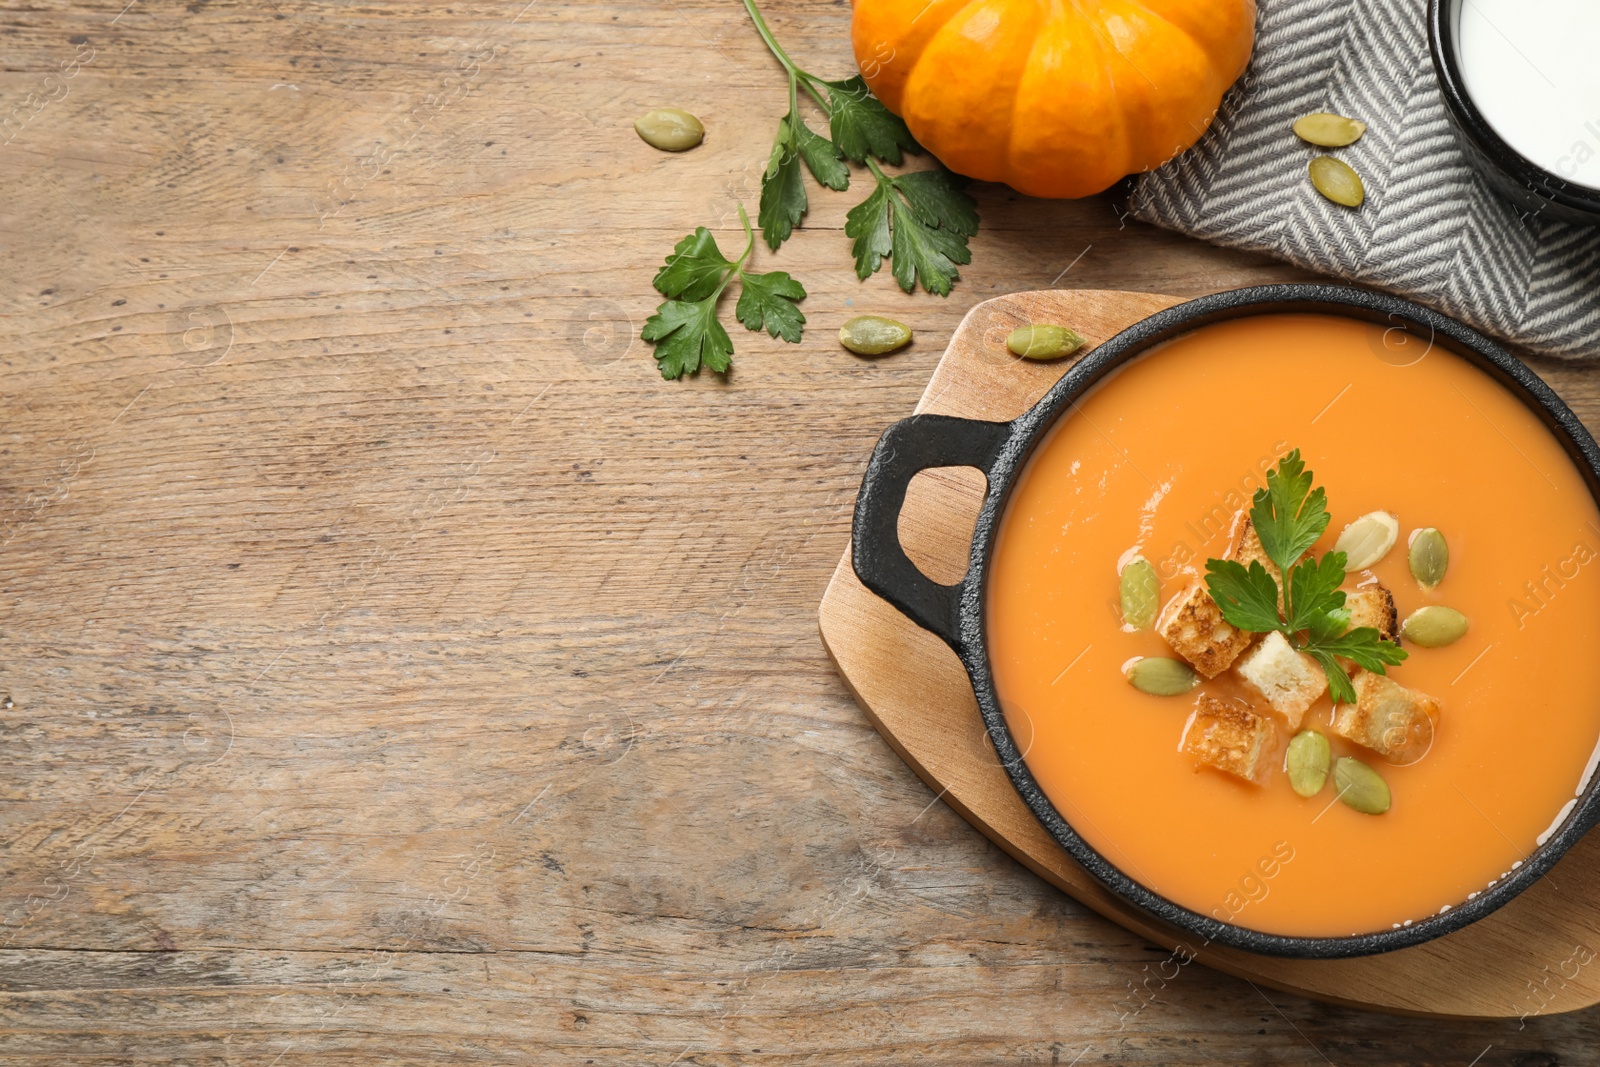
<path fill-rule="evenodd" d="M 922 286 L 950 294 L 960 277 L 955 264 L 971 262 L 966 238 L 978 232 L 971 197 L 949 171 L 915 171 L 890 178 L 867 160 L 878 187 L 845 216 L 845 235 L 853 238 L 856 277 L 870 278 L 893 256 L 894 280 L 907 293 Z"/>

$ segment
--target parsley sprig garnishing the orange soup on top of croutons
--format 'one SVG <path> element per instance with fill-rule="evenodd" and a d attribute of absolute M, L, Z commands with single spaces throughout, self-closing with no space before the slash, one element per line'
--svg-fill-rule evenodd
<path fill-rule="evenodd" d="M 1312 485 L 1312 472 L 1306 470 L 1296 448 L 1267 472 L 1267 485 L 1256 490 L 1250 507 L 1262 552 L 1286 577 L 1282 611 L 1278 582 L 1261 560 L 1251 560 L 1248 568 L 1238 560 L 1206 560 L 1205 581 L 1229 624 L 1250 633 L 1277 630 L 1322 665 L 1336 702 L 1352 704 L 1355 688 L 1341 656 L 1365 670 L 1386 673 L 1406 654 L 1370 625 L 1349 629 L 1350 611 L 1339 589 L 1342 552 L 1328 552 L 1320 560 L 1306 555 L 1328 530 L 1328 494 Z"/>

